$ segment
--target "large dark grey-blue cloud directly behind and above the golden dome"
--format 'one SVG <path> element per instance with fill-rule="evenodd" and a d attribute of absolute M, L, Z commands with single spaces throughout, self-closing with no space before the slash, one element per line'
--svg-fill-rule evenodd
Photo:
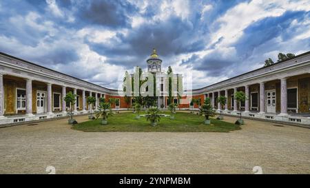
<path fill-rule="evenodd" d="M 119 42 L 121 41 L 121 42 Z M 178 17 L 172 17 L 167 21 L 147 23 L 141 25 L 136 30 L 124 36 L 118 34 L 116 39 L 112 40 L 112 45 L 105 43 L 91 43 L 90 48 L 99 54 L 110 57 L 110 60 L 116 64 L 123 64 L 123 61 L 114 61 L 114 58 L 122 56 L 136 56 L 138 59 L 132 58 L 125 61 L 125 66 L 142 65 L 145 57 L 152 53 L 152 49 L 156 48 L 160 56 L 178 55 L 183 52 L 196 52 L 204 48 L 203 40 L 195 38 L 195 32 L 192 23 L 182 21 Z M 141 57 L 144 57 L 141 59 Z"/>

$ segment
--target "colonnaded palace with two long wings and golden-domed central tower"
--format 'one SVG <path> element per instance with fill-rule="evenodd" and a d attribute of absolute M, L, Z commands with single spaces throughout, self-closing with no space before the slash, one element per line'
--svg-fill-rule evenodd
<path fill-rule="evenodd" d="M 154 50 L 147 59 L 148 72 L 163 72 L 162 60 Z M 164 87 L 160 81 L 159 87 Z M 293 59 L 280 61 L 231 79 L 195 89 L 192 98 L 211 98 L 215 109 L 218 96 L 226 96 L 227 104 L 223 113 L 237 116 L 238 104 L 234 93 L 245 92 L 247 100 L 241 104 L 242 115 L 265 121 L 285 122 L 292 125 L 310 125 L 310 52 Z M 18 124 L 25 121 L 39 121 L 68 116 L 70 105 L 63 101 L 66 93 L 77 95 L 74 114 L 87 114 L 90 105 L 87 96 L 116 98 L 114 109 L 127 109 L 131 104 L 119 96 L 118 90 L 108 89 L 79 78 L 56 72 L 47 67 L 19 59 L 0 52 L 0 124 Z M 188 91 L 184 92 L 183 100 Z M 174 103 L 178 103 L 174 98 Z M 158 97 L 158 106 L 167 106 L 167 96 Z M 179 105 L 180 109 L 198 109 L 191 103 Z"/>

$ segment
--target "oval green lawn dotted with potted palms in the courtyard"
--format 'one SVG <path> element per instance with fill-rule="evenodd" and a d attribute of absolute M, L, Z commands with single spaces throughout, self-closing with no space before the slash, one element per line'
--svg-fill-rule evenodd
<path fill-rule="evenodd" d="M 185 112 L 177 112 L 174 120 L 161 117 L 156 126 L 150 125 L 145 117 L 136 120 L 135 116 L 132 112 L 114 114 L 108 118 L 107 125 L 101 125 L 99 118 L 76 124 L 72 129 L 84 132 L 229 132 L 241 129 L 238 125 L 214 118 L 211 118 L 211 125 L 205 125 L 203 116 Z"/>

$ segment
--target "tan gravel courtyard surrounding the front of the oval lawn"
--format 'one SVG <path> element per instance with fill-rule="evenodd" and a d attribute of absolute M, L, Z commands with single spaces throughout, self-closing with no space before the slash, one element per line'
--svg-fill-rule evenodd
<path fill-rule="evenodd" d="M 1 128 L 0 174 L 310 173 L 310 129 L 245 123 L 229 133 L 79 132 L 66 119 Z"/>

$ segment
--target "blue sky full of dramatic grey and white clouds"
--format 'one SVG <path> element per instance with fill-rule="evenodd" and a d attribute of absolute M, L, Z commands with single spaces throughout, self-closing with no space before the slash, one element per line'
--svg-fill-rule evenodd
<path fill-rule="evenodd" d="M 203 87 L 310 50 L 310 1 L 0 1 L 1 52 L 105 87 L 152 48 Z"/>

